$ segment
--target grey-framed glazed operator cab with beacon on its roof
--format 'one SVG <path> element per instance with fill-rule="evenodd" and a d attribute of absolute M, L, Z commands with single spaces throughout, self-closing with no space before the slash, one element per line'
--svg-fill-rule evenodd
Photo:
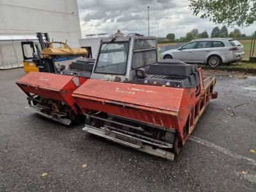
<path fill-rule="evenodd" d="M 131 81 L 135 70 L 157 63 L 157 40 L 154 36 L 127 35 L 118 30 L 100 45 L 92 79 Z"/>

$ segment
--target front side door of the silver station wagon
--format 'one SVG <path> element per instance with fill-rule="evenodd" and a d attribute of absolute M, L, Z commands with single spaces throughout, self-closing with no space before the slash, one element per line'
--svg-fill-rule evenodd
<path fill-rule="evenodd" d="M 173 59 L 191 62 L 192 61 L 192 52 L 194 47 L 196 47 L 197 42 L 189 42 L 188 44 L 183 45 L 177 51 L 172 52 Z"/>

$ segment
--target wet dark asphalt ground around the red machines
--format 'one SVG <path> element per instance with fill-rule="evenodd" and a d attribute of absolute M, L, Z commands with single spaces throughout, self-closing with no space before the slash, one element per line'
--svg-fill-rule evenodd
<path fill-rule="evenodd" d="M 24 109 L 23 75 L 0 71 L 0 191 L 256 191 L 256 76 L 205 71 L 219 97 L 170 162 Z"/>

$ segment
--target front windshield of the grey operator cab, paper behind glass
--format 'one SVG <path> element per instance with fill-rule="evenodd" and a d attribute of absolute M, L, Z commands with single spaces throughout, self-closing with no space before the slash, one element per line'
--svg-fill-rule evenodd
<path fill-rule="evenodd" d="M 129 43 L 106 43 L 100 47 L 95 73 L 124 75 L 126 72 Z"/>

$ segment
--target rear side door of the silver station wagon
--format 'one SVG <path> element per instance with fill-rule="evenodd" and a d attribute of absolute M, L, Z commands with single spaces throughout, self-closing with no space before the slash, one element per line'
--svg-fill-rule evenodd
<path fill-rule="evenodd" d="M 196 45 L 193 53 L 192 60 L 195 63 L 204 63 L 205 59 L 211 54 L 212 41 L 200 41 Z"/>

